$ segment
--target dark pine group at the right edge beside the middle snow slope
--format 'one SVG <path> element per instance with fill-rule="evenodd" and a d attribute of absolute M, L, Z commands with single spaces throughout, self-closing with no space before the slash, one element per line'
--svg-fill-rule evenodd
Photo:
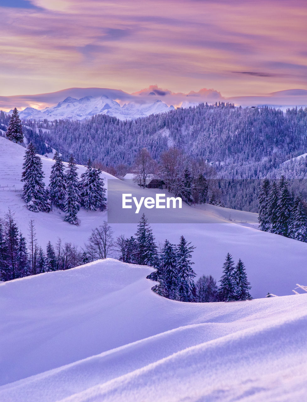
<path fill-rule="evenodd" d="M 284 176 L 277 183 L 264 179 L 258 201 L 261 230 L 307 242 L 307 205 L 301 193 L 290 193 Z"/>

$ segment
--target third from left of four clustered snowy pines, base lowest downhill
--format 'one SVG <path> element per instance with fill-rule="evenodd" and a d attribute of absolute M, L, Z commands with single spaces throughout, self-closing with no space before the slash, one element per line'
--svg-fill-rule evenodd
<path fill-rule="evenodd" d="M 74 157 L 70 156 L 68 161 L 68 172 L 66 173 L 66 195 L 64 203 L 64 221 L 72 225 L 78 225 L 77 213 L 80 209 L 80 189 L 78 182 L 77 167 Z"/>

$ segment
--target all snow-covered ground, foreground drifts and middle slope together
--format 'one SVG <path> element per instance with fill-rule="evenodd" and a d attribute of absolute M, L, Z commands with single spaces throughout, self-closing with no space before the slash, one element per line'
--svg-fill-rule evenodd
<path fill-rule="evenodd" d="M 20 198 L 24 153 L 0 137 L 0 216 L 10 208 L 26 236 L 34 219 L 44 248 L 58 237 L 83 246 L 107 213 L 82 209 L 73 226 L 57 209 L 29 211 Z M 54 162 L 41 159 L 48 183 Z M 154 194 L 102 176 L 119 191 Z M 125 222 L 120 205 L 108 208 Z M 257 214 L 212 205 L 183 205 L 162 219 L 151 224 L 156 240 L 178 243 L 183 234 L 196 246 L 198 276 L 219 279 L 227 252 L 242 258 L 255 299 L 165 299 L 151 291 L 152 269 L 111 258 L 1 283 L 1 402 L 304 400 L 307 294 L 291 293 L 307 283 L 307 244 L 261 232 Z M 115 236 L 136 231 L 135 223 L 111 226 Z M 268 291 L 282 297 L 264 298 Z"/>

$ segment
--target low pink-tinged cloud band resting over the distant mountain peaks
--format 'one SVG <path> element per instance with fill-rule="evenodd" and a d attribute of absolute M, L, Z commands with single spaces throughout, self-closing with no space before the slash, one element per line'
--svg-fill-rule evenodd
<path fill-rule="evenodd" d="M 209 104 L 215 102 L 229 102 L 234 103 L 236 106 L 241 105 L 242 107 L 261 107 L 262 105 L 268 105 L 286 110 L 288 107 L 305 107 L 307 105 L 307 90 L 305 89 L 289 89 L 262 95 L 251 94 L 250 96 L 225 97 L 221 92 L 214 89 L 202 88 L 199 91 L 182 93 L 159 88 L 158 85 L 150 85 L 148 88 L 133 93 L 112 88 L 66 88 L 45 94 L 0 96 L 0 109 L 9 111 L 14 107 L 18 110 L 29 107 L 30 109 L 41 110 L 46 107 L 54 107 L 54 105 L 61 103 L 63 99 L 68 97 L 77 100 L 87 97 L 96 99 L 107 97 L 120 105 L 134 103 L 136 106 L 153 104 L 156 100 L 161 100 L 162 103 L 165 103 L 169 107 L 171 105 L 179 107 L 182 104 L 197 105 L 201 102 L 208 102 Z M 98 107 L 100 107 L 100 105 L 98 105 Z M 142 108 L 140 108 L 139 112 L 141 114 L 143 113 Z M 126 113 L 123 113 L 123 115 L 126 116 Z M 139 116 L 139 114 L 136 115 Z"/>

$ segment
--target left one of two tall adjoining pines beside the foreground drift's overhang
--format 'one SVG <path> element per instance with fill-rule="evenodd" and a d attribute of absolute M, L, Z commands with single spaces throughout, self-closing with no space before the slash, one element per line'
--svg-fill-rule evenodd
<path fill-rule="evenodd" d="M 158 277 L 158 281 L 165 286 L 169 299 L 178 300 L 178 287 L 180 283 L 178 281 L 176 246 L 168 240 L 164 242 L 162 260 L 164 281 L 162 281 L 161 276 Z"/>

